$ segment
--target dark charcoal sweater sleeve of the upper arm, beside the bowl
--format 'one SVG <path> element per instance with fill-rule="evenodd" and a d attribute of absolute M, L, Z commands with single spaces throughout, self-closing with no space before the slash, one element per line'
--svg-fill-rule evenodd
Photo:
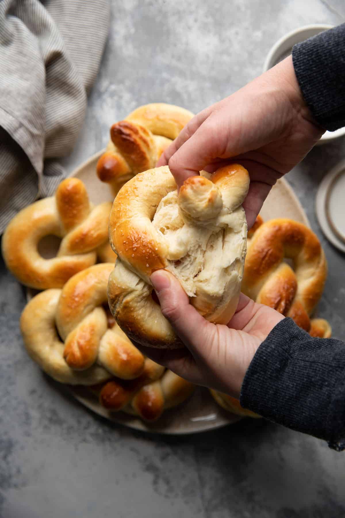
<path fill-rule="evenodd" d="M 314 119 L 329 131 L 345 126 L 345 23 L 295 45 L 292 60 Z"/>

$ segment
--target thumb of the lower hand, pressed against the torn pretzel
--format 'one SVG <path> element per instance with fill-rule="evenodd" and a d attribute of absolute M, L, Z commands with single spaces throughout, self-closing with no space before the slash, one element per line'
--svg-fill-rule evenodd
<path fill-rule="evenodd" d="M 189 304 L 188 295 L 169 272 L 155 271 L 151 276 L 151 282 L 158 296 L 161 311 L 176 335 L 193 355 L 200 355 L 201 349 L 207 343 L 207 337 L 214 331 L 214 325 Z"/>

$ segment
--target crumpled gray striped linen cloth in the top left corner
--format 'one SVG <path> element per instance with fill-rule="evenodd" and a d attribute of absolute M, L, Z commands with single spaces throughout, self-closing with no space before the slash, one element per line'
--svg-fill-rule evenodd
<path fill-rule="evenodd" d="M 108 24 L 107 0 L 0 0 L 0 234 L 64 178 Z"/>

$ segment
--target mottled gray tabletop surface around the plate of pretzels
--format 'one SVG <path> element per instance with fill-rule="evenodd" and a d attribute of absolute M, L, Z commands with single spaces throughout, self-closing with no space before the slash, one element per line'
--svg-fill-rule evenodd
<path fill-rule="evenodd" d="M 114 0 L 85 126 L 64 165 L 71 171 L 102 148 L 109 125 L 136 106 L 164 101 L 197 112 L 258 76 L 284 33 L 344 17 L 343 0 Z M 288 176 L 330 266 L 319 313 L 342 338 L 344 256 L 323 238 L 314 198 L 344 157 L 341 139 L 311 151 Z M 344 453 L 261 420 L 189 437 L 110 424 L 29 361 L 18 329 L 24 293 L 3 264 L 0 297 L 3 518 L 345 516 Z"/>

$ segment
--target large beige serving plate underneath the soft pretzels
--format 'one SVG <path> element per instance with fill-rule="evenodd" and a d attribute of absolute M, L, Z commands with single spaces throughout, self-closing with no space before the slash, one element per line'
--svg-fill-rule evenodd
<path fill-rule="evenodd" d="M 99 181 L 96 175 L 96 164 L 103 151 L 93 155 L 71 176 L 82 180 L 87 188 L 91 201 L 95 204 L 112 200 L 112 194 L 107 184 Z M 273 218 L 291 218 L 309 226 L 306 214 L 298 202 L 288 183 L 278 180 L 269 193 L 261 210 L 264 221 Z M 49 244 L 48 244 L 49 246 Z M 28 292 L 28 297 L 31 293 Z M 147 424 L 140 419 L 124 412 L 110 413 L 104 409 L 97 399 L 90 395 L 86 387 L 62 387 L 78 399 L 87 408 L 115 423 L 139 430 L 152 431 L 161 434 L 192 434 L 219 428 L 239 421 L 239 416 L 223 411 L 214 401 L 208 390 L 198 387 L 190 399 L 179 407 L 168 410 L 153 424 Z"/>

